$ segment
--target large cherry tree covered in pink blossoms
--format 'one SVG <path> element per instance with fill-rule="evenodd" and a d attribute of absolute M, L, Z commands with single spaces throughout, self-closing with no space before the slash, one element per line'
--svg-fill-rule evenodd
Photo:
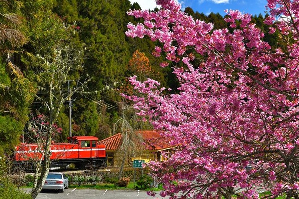
<path fill-rule="evenodd" d="M 138 114 L 149 118 L 180 150 L 152 173 L 161 196 L 186 198 L 298 199 L 299 189 L 299 2 L 268 0 L 271 25 L 285 49 L 263 41 L 251 15 L 227 10 L 229 29 L 194 20 L 174 0 L 157 0 L 158 12 L 130 10 L 143 23 L 127 36 L 159 41 L 180 87 L 169 94 L 158 81 L 131 77 Z M 239 27 L 237 27 L 239 24 Z M 163 53 L 162 53 L 163 52 Z M 184 66 L 177 63 L 183 62 Z M 154 193 L 149 193 L 154 195 Z"/>

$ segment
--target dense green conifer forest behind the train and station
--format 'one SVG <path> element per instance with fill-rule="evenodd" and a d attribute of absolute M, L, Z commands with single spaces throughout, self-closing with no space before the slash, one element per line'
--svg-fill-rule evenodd
<path fill-rule="evenodd" d="M 30 115 L 48 114 L 54 66 L 70 67 L 64 84 L 53 87 L 69 96 L 56 121 L 62 128 L 56 141 L 69 134 L 69 100 L 73 135 L 106 138 L 124 117 L 135 129 L 150 128 L 134 119 L 132 104 L 120 96 L 133 92 L 126 77 L 157 79 L 174 91 L 177 81 L 171 67 L 159 67 L 164 60 L 151 54 L 158 42 L 125 36 L 128 22 L 139 22 L 126 15 L 129 9 L 140 7 L 129 0 L 0 0 L 0 152 L 23 133 L 26 139 Z M 229 28 L 219 13 L 206 16 L 190 7 L 185 12 L 213 23 L 214 29 Z M 255 15 L 252 22 L 266 41 L 279 45 L 280 38 L 267 33 L 264 17 Z"/>

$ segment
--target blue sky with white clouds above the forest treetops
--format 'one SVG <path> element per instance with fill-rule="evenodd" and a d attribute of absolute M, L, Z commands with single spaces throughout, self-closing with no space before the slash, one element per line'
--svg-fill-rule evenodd
<path fill-rule="evenodd" d="M 137 2 L 142 9 L 154 9 L 156 7 L 155 0 L 129 0 L 131 3 Z M 263 14 L 265 15 L 265 5 L 267 0 L 178 0 L 185 7 L 191 7 L 195 12 L 203 12 L 208 15 L 211 12 L 219 12 L 225 15 L 225 9 L 238 9 L 244 13 Z"/>

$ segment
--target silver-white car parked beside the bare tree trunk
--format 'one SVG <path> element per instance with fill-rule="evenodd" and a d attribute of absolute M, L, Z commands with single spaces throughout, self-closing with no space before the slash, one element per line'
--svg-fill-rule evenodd
<path fill-rule="evenodd" d="M 68 178 L 64 173 L 49 173 L 42 189 L 59 190 L 68 189 Z"/>

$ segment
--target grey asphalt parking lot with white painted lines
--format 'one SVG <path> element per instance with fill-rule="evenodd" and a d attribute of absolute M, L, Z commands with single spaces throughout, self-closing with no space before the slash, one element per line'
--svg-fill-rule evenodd
<path fill-rule="evenodd" d="M 30 190 L 25 190 L 29 192 Z M 143 190 L 97 190 L 69 188 L 64 193 L 42 190 L 36 199 L 169 199 L 169 197 L 148 196 Z"/>

